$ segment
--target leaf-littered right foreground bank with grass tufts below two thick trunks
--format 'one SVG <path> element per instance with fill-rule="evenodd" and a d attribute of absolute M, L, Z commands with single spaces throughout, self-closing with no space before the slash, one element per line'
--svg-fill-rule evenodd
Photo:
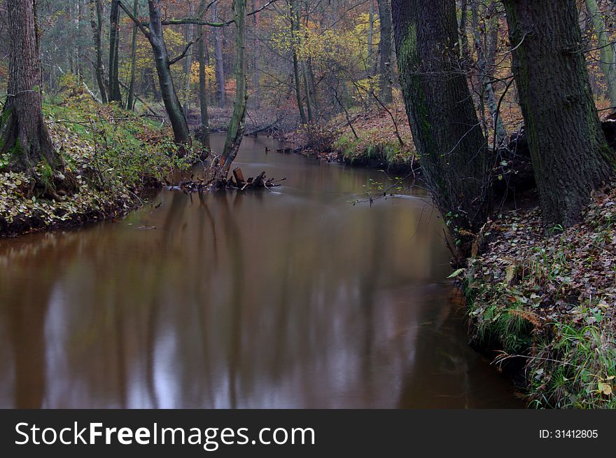
<path fill-rule="evenodd" d="M 538 208 L 482 231 L 458 271 L 472 345 L 488 352 L 533 408 L 616 408 L 616 186 L 582 223 L 543 230 Z"/>

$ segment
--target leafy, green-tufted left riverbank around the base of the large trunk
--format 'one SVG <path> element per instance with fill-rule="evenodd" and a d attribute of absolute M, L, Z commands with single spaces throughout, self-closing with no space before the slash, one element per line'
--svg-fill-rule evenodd
<path fill-rule="evenodd" d="M 45 100 L 43 113 L 78 191 L 59 200 L 38 198 L 31 195 L 32 179 L 1 171 L 8 158 L 0 158 L 0 237 L 122 216 L 143 204 L 148 189 L 160 187 L 169 172 L 190 165 L 190 157 L 174 154 L 173 137 L 158 120 L 96 104 L 78 88 Z M 45 173 L 42 164 L 38 173 Z"/>

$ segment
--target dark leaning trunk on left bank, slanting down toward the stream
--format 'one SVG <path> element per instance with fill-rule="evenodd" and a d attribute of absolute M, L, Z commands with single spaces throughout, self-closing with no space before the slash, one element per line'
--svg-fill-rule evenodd
<path fill-rule="evenodd" d="M 148 0 L 148 8 L 150 11 L 148 40 L 154 51 L 154 61 L 156 62 L 156 71 L 158 72 L 162 102 L 165 104 L 167 116 L 169 116 L 169 121 L 171 121 L 176 143 L 190 144 L 188 123 L 186 123 L 186 118 L 184 117 L 174 86 L 171 69 L 169 68 L 169 54 L 167 53 L 167 46 L 165 46 L 165 39 L 162 34 L 160 0 Z"/>

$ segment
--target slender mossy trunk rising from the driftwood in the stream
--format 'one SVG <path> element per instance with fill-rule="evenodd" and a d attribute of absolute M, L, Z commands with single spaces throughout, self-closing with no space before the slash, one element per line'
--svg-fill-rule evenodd
<path fill-rule="evenodd" d="M 235 18 L 235 102 L 233 114 L 227 130 L 227 139 L 223 149 L 223 171 L 229 172 L 233 160 L 239 150 L 241 138 L 246 127 L 246 100 L 248 88 L 246 84 L 246 0 L 233 0 L 233 17 Z"/>

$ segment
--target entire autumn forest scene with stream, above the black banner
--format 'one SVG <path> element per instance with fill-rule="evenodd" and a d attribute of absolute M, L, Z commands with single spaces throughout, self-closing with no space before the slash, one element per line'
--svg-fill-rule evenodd
<path fill-rule="evenodd" d="M 0 0 L 0 55 L 0 406 L 616 408 L 615 0 Z"/>

